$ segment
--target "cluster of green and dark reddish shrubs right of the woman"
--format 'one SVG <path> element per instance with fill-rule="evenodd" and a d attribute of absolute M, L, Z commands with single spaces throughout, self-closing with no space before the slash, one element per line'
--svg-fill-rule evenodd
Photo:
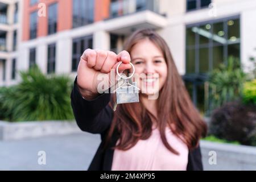
<path fill-rule="evenodd" d="M 244 73 L 240 61 L 233 57 L 210 72 L 211 136 L 256 146 L 256 81 L 245 82 L 251 78 L 254 74 Z"/>

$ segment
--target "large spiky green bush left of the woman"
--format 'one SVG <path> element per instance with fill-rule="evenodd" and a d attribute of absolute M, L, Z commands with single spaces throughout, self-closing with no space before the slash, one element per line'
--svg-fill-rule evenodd
<path fill-rule="evenodd" d="M 38 67 L 20 72 L 22 81 L 0 92 L 3 117 L 10 121 L 73 119 L 72 82 L 68 76 L 44 75 Z"/>

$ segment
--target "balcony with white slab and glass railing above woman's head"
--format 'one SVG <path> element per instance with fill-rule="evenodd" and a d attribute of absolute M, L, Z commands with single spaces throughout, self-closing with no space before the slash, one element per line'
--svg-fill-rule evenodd
<path fill-rule="evenodd" d="M 163 28 L 167 19 L 159 14 L 158 5 L 159 0 L 112 1 L 105 30 L 116 35 L 129 35 L 138 28 Z"/>

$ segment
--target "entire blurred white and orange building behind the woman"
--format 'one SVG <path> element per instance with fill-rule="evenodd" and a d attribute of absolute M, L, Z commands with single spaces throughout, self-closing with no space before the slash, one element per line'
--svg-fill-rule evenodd
<path fill-rule="evenodd" d="M 20 4 L 18 54 L 11 46 L 13 16 L 8 16 L 8 25 L 0 19 L 2 85 L 18 81 L 15 70 L 33 64 L 46 74 L 75 76 L 86 48 L 119 52 L 131 32 L 148 27 L 170 46 L 193 102 L 204 113 L 209 105 L 206 73 L 229 56 L 248 66 L 256 47 L 255 0 L 24 0 Z M 15 7 L 14 1 L 1 3 L 1 17 L 7 11 L 15 14 Z M 7 58 L 2 59 L 2 54 Z"/>

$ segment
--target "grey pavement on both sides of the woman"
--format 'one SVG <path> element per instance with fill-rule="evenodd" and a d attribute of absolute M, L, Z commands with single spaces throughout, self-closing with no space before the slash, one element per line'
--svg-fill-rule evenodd
<path fill-rule="evenodd" d="M 100 135 L 82 131 L 70 135 L 0 141 L 0 170 L 86 170 L 99 144 Z M 255 170 L 254 164 L 248 166 L 249 164 L 242 163 L 244 160 L 236 159 L 237 156 L 251 158 L 254 155 L 235 155 L 234 152 L 220 150 L 220 145 L 208 145 L 205 142 L 201 143 L 205 170 Z M 209 151 L 212 150 L 216 150 L 218 154 L 217 165 L 208 163 Z M 41 158 L 38 155 L 39 151 L 46 152 L 45 165 L 38 164 L 38 159 Z"/>

